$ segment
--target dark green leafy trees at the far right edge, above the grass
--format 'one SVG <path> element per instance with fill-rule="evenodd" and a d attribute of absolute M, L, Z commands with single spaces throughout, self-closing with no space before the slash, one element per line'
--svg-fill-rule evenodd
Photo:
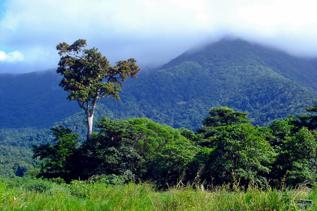
<path fill-rule="evenodd" d="M 273 121 L 268 127 L 271 130 L 268 141 L 277 154 L 269 176 L 272 185 L 314 185 L 317 182 L 316 131 L 306 127 L 312 124 L 304 121 L 305 117 L 307 115 L 297 119 L 291 115 L 284 121 Z M 309 115 L 309 119 L 314 118 Z"/>

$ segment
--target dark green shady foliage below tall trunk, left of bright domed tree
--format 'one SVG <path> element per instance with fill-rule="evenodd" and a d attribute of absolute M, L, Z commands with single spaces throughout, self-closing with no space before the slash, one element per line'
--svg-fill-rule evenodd
<path fill-rule="evenodd" d="M 81 178 L 93 175 L 118 175 L 124 182 L 138 180 L 142 175 L 144 159 L 131 147 L 124 143 L 111 142 L 104 135 L 93 135 L 81 146 L 82 172 Z"/>

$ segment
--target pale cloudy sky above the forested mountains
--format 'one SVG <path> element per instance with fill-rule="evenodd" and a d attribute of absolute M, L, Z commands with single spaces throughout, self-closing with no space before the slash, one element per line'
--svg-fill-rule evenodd
<path fill-rule="evenodd" d="M 56 45 L 86 39 L 113 65 L 163 65 L 223 36 L 317 57 L 315 0 L 0 0 L 0 73 L 56 68 Z"/>

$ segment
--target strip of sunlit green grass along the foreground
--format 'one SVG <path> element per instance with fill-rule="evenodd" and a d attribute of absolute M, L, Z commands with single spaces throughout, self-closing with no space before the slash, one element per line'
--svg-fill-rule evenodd
<path fill-rule="evenodd" d="M 223 186 L 201 191 L 188 185 L 157 191 L 150 184 L 129 183 L 111 186 L 73 181 L 70 184 L 41 180 L 0 182 L 0 210 L 223 210 L 289 211 L 300 210 L 296 199 L 317 200 L 317 189 L 246 191 Z M 33 181 L 32 185 L 28 185 Z M 38 185 L 37 185 L 38 183 Z M 38 188 L 41 187 L 41 188 Z M 306 210 L 317 210 L 316 204 Z"/>

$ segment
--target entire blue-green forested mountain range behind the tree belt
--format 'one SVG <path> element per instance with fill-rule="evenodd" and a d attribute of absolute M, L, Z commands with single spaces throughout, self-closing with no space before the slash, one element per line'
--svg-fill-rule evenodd
<path fill-rule="evenodd" d="M 121 100 L 102 99 L 96 119 L 147 117 L 195 130 L 212 106 L 248 111 L 261 126 L 317 103 L 317 59 L 305 59 L 245 40 L 223 39 L 191 49 L 160 70 L 126 83 Z M 1 128 L 62 123 L 82 133 L 84 116 L 58 86 L 55 70 L 0 74 Z M 69 117 L 67 117 L 69 116 Z M 66 118 L 67 117 L 67 118 Z"/>

